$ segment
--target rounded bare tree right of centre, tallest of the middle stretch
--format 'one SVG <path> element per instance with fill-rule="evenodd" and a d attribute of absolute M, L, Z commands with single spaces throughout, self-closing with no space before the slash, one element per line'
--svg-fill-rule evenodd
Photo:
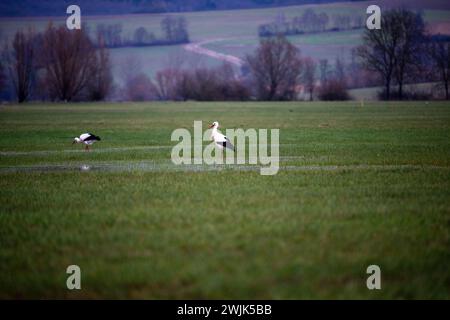
<path fill-rule="evenodd" d="M 260 100 L 292 100 L 301 73 L 300 50 L 279 35 L 264 39 L 246 57 Z"/>

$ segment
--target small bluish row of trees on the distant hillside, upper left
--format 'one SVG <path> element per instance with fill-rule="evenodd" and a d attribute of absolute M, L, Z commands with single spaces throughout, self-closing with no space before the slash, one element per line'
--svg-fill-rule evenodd
<path fill-rule="evenodd" d="M 104 39 L 107 48 L 175 45 L 189 42 L 186 19 L 182 16 L 166 16 L 161 20 L 162 36 L 158 37 L 144 27 L 134 30 L 132 36 L 124 36 L 120 23 L 97 25 L 97 35 Z"/>

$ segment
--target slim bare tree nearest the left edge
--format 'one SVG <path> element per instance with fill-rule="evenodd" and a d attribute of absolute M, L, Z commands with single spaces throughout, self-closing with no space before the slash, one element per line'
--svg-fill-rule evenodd
<path fill-rule="evenodd" d="M 12 80 L 17 101 L 25 102 L 30 98 L 35 75 L 34 33 L 18 31 L 12 42 L 12 50 L 6 45 L 3 52 L 9 76 Z"/>

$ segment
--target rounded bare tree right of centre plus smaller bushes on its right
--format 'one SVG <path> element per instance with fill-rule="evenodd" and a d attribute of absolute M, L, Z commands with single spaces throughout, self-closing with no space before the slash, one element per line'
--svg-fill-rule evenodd
<path fill-rule="evenodd" d="M 347 84 L 341 60 L 337 59 L 332 76 L 318 80 L 318 64 L 311 57 L 302 57 L 300 50 L 283 35 L 261 40 L 253 55 L 246 58 L 250 85 L 258 100 L 347 100 Z"/>

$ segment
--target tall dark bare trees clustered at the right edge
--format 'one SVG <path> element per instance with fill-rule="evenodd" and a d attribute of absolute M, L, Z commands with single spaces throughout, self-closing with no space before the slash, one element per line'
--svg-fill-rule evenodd
<path fill-rule="evenodd" d="M 393 9 L 383 13 L 381 29 L 364 32 L 363 45 L 358 47 L 357 55 L 365 69 L 376 72 L 382 79 L 384 99 L 405 98 L 405 84 L 417 82 L 427 74 L 443 84 L 446 99 L 449 99 L 448 40 L 436 41 L 435 37 L 427 35 L 420 13 Z M 439 74 L 439 78 L 433 74 Z"/>

